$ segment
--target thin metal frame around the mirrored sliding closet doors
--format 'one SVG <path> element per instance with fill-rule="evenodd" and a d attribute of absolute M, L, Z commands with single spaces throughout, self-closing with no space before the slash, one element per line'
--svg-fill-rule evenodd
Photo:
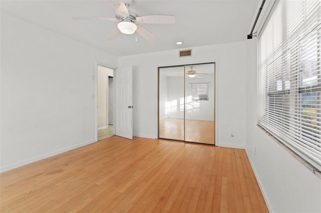
<path fill-rule="evenodd" d="M 177 140 L 177 139 L 169 139 L 169 138 L 160 138 L 160 110 L 159 110 L 159 107 L 160 107 L 160 68 L 168 68 L 168 67 L 184 67 L 184 73 L 186 72 L 186 66 L 192 66 L 192 65 L 203 65 L 203 64 L 214 64 L 214 144 L 210 144 L 210 143 L 201 143 L 201 142 L 191 142 L 191 141 L 186 141 L 185 140 L 185 75 L 184 76 L 184 140 Z M 182 141 L 182 142 L 187 142 L 187 143 L 198 143 L 198 144 L 209 144 L 209 145 L 215 145 L 217 146 L 217 143 L 216 143 L 216 97 L 217 97 L 217 91 L 216 91 L 216 62 L 204 62 L 204 63 L 193 63 L 193 64 L 182 64 L 182 65 L 171 65 L 171 66 L 161 66 L 161 67 L 157 67 L 157 93 L 158 93 L 158 99 L 157 99 L 157 112 L 158 112 L 158 115 L 157 115 L 157 126 L 158 126 L 158 132 L 157 132 L 157 138 L 160 138 L 160 139 L 167 139 L 167 140 L 177 140 L 177 141 Z"/>

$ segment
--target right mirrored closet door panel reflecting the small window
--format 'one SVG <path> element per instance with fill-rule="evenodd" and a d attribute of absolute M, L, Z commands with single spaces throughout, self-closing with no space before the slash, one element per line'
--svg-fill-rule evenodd
<path fill-rule="evenodd" d="M 214 64 L 188 65 L 185 73 L 185 141 L 215 144 Z"/>

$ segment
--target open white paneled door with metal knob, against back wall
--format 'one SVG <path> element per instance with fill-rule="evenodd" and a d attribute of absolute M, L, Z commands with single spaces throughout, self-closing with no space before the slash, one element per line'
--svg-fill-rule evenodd
<path fill-rule="evenodd" d="M 133 139 L 133 79 L 132 67 L 116 69 L 114 76 L 114 89 L 116 89 L 116 135 Z"/>

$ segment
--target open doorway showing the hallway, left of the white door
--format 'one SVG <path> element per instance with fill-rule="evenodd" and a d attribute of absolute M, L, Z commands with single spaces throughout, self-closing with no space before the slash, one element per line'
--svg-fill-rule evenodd
<path fill-rule="evenodd" d="M 97 65 L 97 140 L 114 136 L 114 70 Z"/>

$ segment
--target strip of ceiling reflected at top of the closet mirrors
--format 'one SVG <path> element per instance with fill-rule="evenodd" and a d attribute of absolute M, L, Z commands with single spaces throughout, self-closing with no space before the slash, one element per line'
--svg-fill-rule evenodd
<path fill-rule="evenodd" d="M 214 75 L 214 64 L 199 64 L 199 65 L 188 65 L 186 66 L 186 72 L 191 70 L 190 66 L 194 66 L 193 70 L 197 73 L 206 73 L 209 75 Z M 160 75 L 166 77 L 182 77 L 177 76 L 177 74 L 184 73 L 183 67 L 164 67 L 160 68 Z"/>

